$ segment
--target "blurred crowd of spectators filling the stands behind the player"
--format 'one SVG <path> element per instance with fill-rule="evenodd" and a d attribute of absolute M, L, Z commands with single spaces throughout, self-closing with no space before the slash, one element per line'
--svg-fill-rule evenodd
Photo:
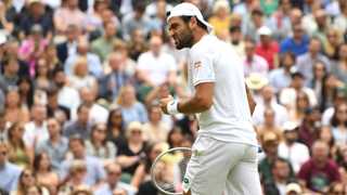
<path fill-rule="evenodd" d="M 185 0 L 242 57 L 266 195 L 347 194 L 347 1 Z M 180 0 L 0 1 L 0 194 L 155 195 L 153 159 L 191 146 Z"/>

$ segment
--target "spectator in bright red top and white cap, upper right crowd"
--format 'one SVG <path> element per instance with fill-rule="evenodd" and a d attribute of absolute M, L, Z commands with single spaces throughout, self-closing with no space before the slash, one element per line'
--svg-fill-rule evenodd
<path fill-rule="evenodd" d="M 272 31 L 267 26 L 261 26 L 257 34 L 259 35 L 260 42 L 256 47 L 256 53 L 262 56 L 269 64 L 269 69 L 279 67 L 280 47 L 279 43 L 272 40 Z"/>

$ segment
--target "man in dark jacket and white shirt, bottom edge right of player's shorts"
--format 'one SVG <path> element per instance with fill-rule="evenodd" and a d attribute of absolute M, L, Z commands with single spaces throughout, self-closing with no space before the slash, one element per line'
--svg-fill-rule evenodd
<path fill-rule="evenodd" d="M 290 164 L 283 158 L 277 158 L 271 167 L 272 180 L 264 182 L 265 194 L 286 194 L 287 184 L 295 181 L 291 177 Z"/>

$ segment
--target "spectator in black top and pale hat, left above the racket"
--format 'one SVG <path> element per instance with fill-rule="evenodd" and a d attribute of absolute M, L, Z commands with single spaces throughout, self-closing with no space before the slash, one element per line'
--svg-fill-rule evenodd
<path fill-rule="evenodd" d="M 117 161 L 124 173 L 133 176 L 137 167 L 144 157 L 146 143 L 143 141 L 143 126 L 132 121 L 126 130 L 127 144 L 119 147 Z"/>

